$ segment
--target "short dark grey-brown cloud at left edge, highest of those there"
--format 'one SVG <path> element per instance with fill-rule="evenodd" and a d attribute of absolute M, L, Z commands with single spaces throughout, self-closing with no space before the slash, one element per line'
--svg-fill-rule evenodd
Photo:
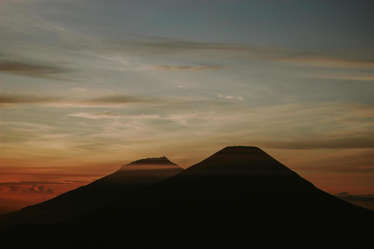
<path fill-rule="evenodd" d="M 25 62 L 0 62 L 0 72 L 33 78 L 72 81 L 60 74 L 74 72 L 71 68 Z"/>

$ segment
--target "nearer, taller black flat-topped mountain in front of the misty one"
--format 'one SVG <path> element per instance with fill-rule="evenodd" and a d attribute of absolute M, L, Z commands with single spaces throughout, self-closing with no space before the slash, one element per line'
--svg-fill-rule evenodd
<path fill-rule="evenodd" d="M 261 149 L 233 146 L 73 220 L 22 225 L 0 239 L 28 248 L 373 248 L 373 221 L 373 211 Z"/>

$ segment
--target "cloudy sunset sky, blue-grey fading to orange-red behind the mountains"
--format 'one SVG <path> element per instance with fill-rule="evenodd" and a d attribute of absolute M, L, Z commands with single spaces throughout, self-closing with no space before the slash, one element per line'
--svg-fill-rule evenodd
<path fill-rule="evenodd" d="M 374 194 L 373 1 L 0 0 L 0 200 L 257 146 Z"/>

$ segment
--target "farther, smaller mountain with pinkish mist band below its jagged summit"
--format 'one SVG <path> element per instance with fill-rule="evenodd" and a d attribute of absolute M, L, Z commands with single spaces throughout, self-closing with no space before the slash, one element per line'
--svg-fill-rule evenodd
<path fill-rule="evenodd" d="M 183 168 L 165 156 L 147 158 L 121 166 L 113 174 L 53 199 L 0 216 L 0 231 L 21 223 L 55 223 L 74 218 L 140 187 L 171 177 Z"/>

